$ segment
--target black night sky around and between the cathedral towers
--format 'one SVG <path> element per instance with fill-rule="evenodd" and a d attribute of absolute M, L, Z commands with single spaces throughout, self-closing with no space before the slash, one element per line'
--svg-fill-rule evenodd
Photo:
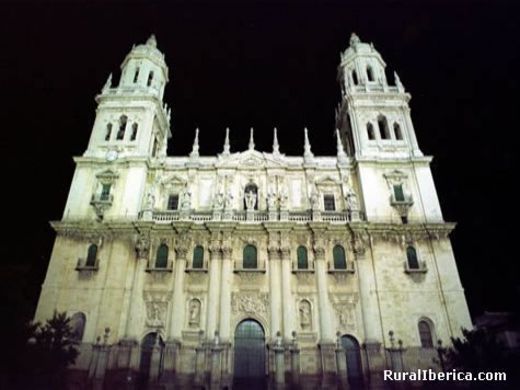
<path fill-rule="evenodd" d="M 412 94 L 445 219 L 458 222 L 452 242 L 472 314 L 517 306 L 510 226 L 520 20 L 513 3 L 73 3 L 0 6 L 1 276 L 25 289 L 29 312 L 52 249 L 48 221 L 61 218 L 94 96 L 150 33 L 170 68 L 173 155 L 189 152 L 197 126 L 202 154 L 221 151 L 226 126 L 232 150 L 247 147 L 253 126 L 257 149 L 268 151 L 277 126 L 281 151 L 301 155 L 307 126 L 314 153 L 334 155 L 339 52 L 352 31 L 372 41 L 387 74 L 397 70 Z"/>

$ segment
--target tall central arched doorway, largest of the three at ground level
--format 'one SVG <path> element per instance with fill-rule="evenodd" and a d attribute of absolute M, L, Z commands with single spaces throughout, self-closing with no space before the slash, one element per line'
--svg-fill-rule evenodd
<path fill-rule="evenodd" d="M 265 387 L 265 332 L 255 320 L 244 320 L 235 330 L 234 387 Z"/>

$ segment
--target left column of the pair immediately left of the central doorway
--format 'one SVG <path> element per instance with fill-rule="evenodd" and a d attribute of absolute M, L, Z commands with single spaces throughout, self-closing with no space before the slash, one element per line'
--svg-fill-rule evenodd
<path fill-rule="evenodd" d="M 219 314 L 219 290 L 220 290 L 220 245 L 218 241 L 213 240 L 209 247 L 209 289 L 207 304 L 207 323 L 206 335 L 211 337 L 217 330 L 217 321 Z"/>

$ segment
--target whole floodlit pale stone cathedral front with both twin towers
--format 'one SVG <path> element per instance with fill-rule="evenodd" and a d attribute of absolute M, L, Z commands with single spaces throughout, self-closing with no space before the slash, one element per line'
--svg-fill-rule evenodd
<path fill-rule="evenodd" d="M 152 36 L 109 77 L 35 319 L 71 318 L 74 388 L 384 387 L 439 369 L 471 327 L 407 93 L 372 44 L 341 54 L 336 154 L 249 146 L 167 156 L 168 67 Z M 333 146 L 333 147 L 334 147 Z"/>

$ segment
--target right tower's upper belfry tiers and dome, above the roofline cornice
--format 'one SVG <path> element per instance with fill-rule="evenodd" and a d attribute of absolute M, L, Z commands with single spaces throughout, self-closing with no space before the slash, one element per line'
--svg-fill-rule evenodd
<path fill-rule="evenodd" d="M 410 118 L 411 96 L 397 73 L 395 85 L 388 84 L 385 68 L 374 45 L 353 33 L 338 67 L 341 103 L 336 127 L 349 155 L 356 158 L 422 156 Z"/>

